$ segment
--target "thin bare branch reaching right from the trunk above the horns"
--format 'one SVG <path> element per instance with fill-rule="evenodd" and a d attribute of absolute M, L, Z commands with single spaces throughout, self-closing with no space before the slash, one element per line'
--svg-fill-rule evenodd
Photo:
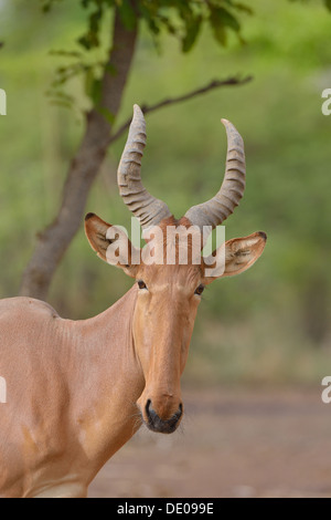
<path fill-rule="evenodd" d="M 209 91 L 214 89 L 220 89 L 221 86 L 228 86 L 235 85 L 241 86 L 249 83 L 253 80 L 253 76 L 246 76 L 244 79 L 239 79 L 237 76 L 227 77 L 226 80 L 213 80 L 205 86 L 201 86 L 200 89 L 195 89 L 194 91 L 188 92 L 186 94 L 182 94 L 177 97 L 168 97 L 163 101 L 160 101 L 153 105 L 141 105 L 140 108 L 142 110 L 143 114 L 148 114 L 150 112 L 154 112 L 163 106 L 174 105 L 175 103 L 182 103 L 183 101 L 191 100 L 192 97 L 196 97 L 201 94 L 205 94 Z M 132 116 L 128 117 L 128 119 L 109 137 L 108 144 L 114 143 L 117 141 L 121 134 L 130 126 Z"/>

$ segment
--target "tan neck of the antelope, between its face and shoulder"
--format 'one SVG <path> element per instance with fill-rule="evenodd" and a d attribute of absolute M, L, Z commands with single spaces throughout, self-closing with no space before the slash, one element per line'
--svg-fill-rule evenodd
<path fill-rule="evenodd" d="M 95 472 L 141 424 L 136 402 L 145 378 L 132 335 L 136 299 L 134 285 L 102 314 L 72 322 L 82 360 L 75 371 L 78 381 L 73 382 L 74 388 L 81 388 L 75 393 L 75 419 L 83 430 L 84 450 L 96 460 Z"/>

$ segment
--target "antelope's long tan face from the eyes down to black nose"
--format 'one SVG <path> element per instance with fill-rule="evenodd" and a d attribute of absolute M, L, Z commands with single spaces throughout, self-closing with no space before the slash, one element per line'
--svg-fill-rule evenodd
<path fill-rule="evenodd" d="M 185 247 L 179 240 L 177 248 Z M 180 378 L 205 287 L 203 270 L 192 263 L 142 263 L 136 279 L 134 337 L 146 381 L 138 406 L 151 430 L 170 434 L 183 415 Z"/>

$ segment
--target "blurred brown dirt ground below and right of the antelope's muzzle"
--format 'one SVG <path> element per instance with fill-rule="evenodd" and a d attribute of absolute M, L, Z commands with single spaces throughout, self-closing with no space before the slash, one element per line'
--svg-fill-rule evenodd
<path fill-rule="evenodd" d="M 312 389 L 183 389 L 172 435 L 141 428 L 89 497 L 331 497 L 331 404 Z"/>

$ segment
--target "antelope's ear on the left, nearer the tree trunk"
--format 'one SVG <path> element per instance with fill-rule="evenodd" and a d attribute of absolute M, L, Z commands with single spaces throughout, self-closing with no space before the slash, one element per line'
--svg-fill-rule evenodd
<path fill-rule="evenodd" d="M 129 277 L 136 277 L 140 250 L 132 246 L 124 229 L 105 222 L 94 214 L 87 214 L 85 233 L 99 258 L 121 268 Z"/>

